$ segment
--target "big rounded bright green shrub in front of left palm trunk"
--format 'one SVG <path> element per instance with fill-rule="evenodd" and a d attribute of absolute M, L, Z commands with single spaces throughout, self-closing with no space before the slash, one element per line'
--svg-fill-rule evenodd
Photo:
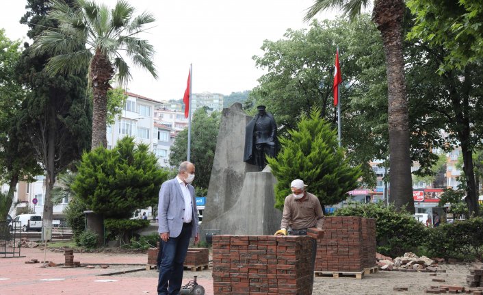
<path fill-rule="evenodd" d="M 114 149 L 99 146 L 82 156 L 71 189 L 88 208 L 105 218 L 129 218 L 135 209 L 157 203 L 167 172 L 147 144 L 119 140 Z"/>

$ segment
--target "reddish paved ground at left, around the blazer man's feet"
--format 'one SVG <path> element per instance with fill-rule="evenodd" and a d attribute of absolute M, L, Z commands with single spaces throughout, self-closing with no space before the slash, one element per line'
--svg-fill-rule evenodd
<path fill-rule="evenodd" d="M 147 254 L 74 253 L 74 260 L 81 264 L 112 264 L 109 268 L 42 268 L 41 263 L 25 264 L 30 259 L 43 261 L 44 251 L 39 248 L 22 248 L 19 258 L 0 258 L 0 295 L 111 295 L 157 294 L 157 276 L 146 277 L 110 275 L 119 270 L 143 268 Z M 47 251 L 47 261 L 64 262 L 64 253 Z M 114 265 L 116 264 L 116 265 Z M 155 272 L 154 270 L 150 270 Z M 146 272 L 146 270 L 144 270 Z M 185 271 L 183 285 L 193 279 L 193 273 Z M 213 294 L 210 278 L 199 278 L 205 294 Z"/>

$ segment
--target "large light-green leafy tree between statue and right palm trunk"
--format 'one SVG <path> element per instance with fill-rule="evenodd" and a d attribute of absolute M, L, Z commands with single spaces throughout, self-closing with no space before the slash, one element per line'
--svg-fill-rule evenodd
<path fill-rule="evenodd" d="M 337 126 L 332 104 L 334 60 L 328 54 L 334 43 L 344 49 L 341 55 L 345 81 L 341 88 L 342 142 L 354 166 L 363 168 L 363 180 L 375 184 L 369 166 L 371 159 L 387 157 L 387 83 L 382 40 L 368 16 L 348 23 L 313 21 L 309 30 L 287 30 L 285 38 L 263 42 L 263 55 L 254 56 L 258 67 L 267 70 L 259 86 L 250 93 L 246 107 L 266 105 L 274 114 L 282 136 L 311 107 L 320 107 L 321 118 Z M 364 140 L 361 140 L 363 138 Z"/>

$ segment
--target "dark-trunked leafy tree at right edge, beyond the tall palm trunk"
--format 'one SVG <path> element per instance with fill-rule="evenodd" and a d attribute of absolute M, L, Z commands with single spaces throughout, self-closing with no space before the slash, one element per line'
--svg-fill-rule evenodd
<path fill-rule="evenodd" d="M 462 170 L 467 183 L 465 201 L 469 211 L 478 215 L 473 150 L 479 149 L 483 139 L 483 69 L 467 64 L 439 73 L 441 63 L 449 58 L 451 52 L 424 40 L 412 39 L 408 42 L 411 44 L 406 51 L 408 95 L 413 114 L 420 121 L 416 135 L 431 136 L 426 142 L 426 149 L 439 147 L 450 151 L 461 147 Z"/>

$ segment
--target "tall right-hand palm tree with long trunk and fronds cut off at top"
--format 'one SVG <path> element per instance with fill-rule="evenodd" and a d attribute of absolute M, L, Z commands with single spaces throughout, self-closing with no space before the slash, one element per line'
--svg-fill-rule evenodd
<path fill-rule="evenodd" d="M 313 18 L 322 10 L 339 8 L 343 16 L 356 18 L 361 8 L 367 8 L 370 0 L 315 0 L 308 9 L 305 20 Z M 384 44 L 388 86 L 389 123 L 389 176 L 391 199 L 395 207 L 415 211 L 413 183 L 411 180 L 411 159 L 408 123 L 408 101 L 404 80 L 404 59 L 402 55 L 402 20 L 404 0 L 374 0 L 372 20 L 376 23 Z"/>

